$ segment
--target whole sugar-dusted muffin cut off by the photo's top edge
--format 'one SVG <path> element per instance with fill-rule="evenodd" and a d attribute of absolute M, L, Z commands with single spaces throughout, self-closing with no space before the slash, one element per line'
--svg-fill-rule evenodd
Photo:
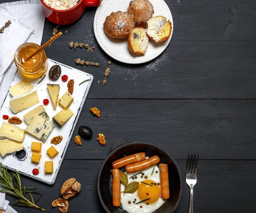
<path fill-rule="evenodd" d="M 132 0 L 127 9 L 137 24 L 146 23 L 154 13 L 153 5 L 148 0 Z"/>

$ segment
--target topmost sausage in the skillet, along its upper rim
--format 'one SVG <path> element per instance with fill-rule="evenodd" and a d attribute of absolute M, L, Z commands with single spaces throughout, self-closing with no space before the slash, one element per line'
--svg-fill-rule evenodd
<path fill-rule="evenodd" d="M 143 161 L 146 159 L 145 153 L 136 153 L 134 155 L 129 155 L 124 158 L 120 158 L 112 163 L 114 169 L 118 169 L 120 167 L 124 167 L 128 164 L 133 164 L 138 161 Z"/>

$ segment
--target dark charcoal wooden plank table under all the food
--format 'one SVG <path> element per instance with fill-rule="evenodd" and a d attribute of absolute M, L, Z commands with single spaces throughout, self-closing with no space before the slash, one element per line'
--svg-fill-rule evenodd
<path fill-rule="evenodd" d="M 1 0 L 8 1 L 8 0 Z M 61 197 L 62 183 L 71 177 L 82 190 L 70 199 L 69 213 L 104 213 L 96 181 L 99 167 L 119 138 L 147 141 L 163 147 L 177 161 L 183 175 L 183 195 L 177 213 L 189 208 L 186 162 L 199 153 L 198 183 L 194 189 L 195 213 L 252 213 L 256 195 L 256 4 L 254 0 L 166 0 L 174 20 L 168 48 L 157 59 L 127 65 L 112 60 L 96 42 L 93 17 L 88 8 L 79 21 L 59 30 L 68 31 L 46 48 L 53 60 L 94 76 L 78 127 L 93 130 L 83 145 L 70 142 L 54 185 L 22 177 L 44 195 L 39 205 L 47 212 Z M 42 43 L 56 25 L 45 20 Z M 68 43 L 84 42 L 93 52 L 70 49 Z M 99 62 L 80 66 L 74 59 Z M 111 74 L 103 80 L 108 60 Z M 98 107 L 96 118 L 90 107 Z M 111 117 L 109 116 L 111 115 Z M 96 141 L 104 133 L 106 146 Z M 8 199 L 13 200 L 8 196 Z M 19 213 L 38 213 L 15 207 Z"/>

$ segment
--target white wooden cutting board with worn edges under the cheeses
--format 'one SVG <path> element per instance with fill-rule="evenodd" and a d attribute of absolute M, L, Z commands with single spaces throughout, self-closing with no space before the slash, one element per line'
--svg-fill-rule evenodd
<path fill-rule="evenodd" d="M 58 127 L 57 124 L 55 124 L 55 127 L 53 128 L 52 132 L 50 133 L 49 137 L 47 138 L 46 142 L 42 142 L 38 138 L 35 138 L 33 135 L 30 135 L 29 133 L 26 133 L 25 139 L 23 141 L 24 143 L 24 151 L 26 152 L 26 156 L 23 159 L 18 159 L 16 157 L 16 153 L 6 154 L 4 157 L 0 155 L 0 161 L 4 166 L 7 166 L 8 169 L 17 171 L 20 174 L 23 174 L 25 176 L 28 176 L 30 178 L 37 179 L 38 181 L 42 181 L 47 184 L 53 184 L 55 182 L 55 179 L 58 175 L 58 171 L 61 167 L 61 163 L 63 161 L 64 155 L 67 151 L 67 147 L 70 143 L 70 139 L 73 135 L 74 129 L 76 127 L 76 123 L 78 121 L 79 115 L 81 113 L 81 110 L 84 106 L 84 101 L 88 95 L 90 86 L 93 82 L 93 76 L 82 72 L 78 69 L 74 69 L 70 66 L 66 66 L 62 63 L 58 63 L 54 60 L 48 59 L 49 65 L 46 74 L 46 77 L 44 80 L 38 84 L 40 81 L 39 79 L 28 79 L 34 86 L 32 91 L 37 90 L 38 91 L 38 97 L 40 103 L 29 107 L 28 109 L 25 109 L 23 111 L 14 113 L 12 112 L 12 109 L 9 105 L 9 101 L 12 98 L 12 95 L 8 92 L 6 95 L 5 101 L 3 103 L 3 106 L 0 110 L 0 126 L 3 122 L 8 122 L 7 120 L 3 120 L 3 115 L 9 115 L 9 118 L 12 116 L 16 116 L 20 118 L 23 122 L 22 124 L 17 124 L 17 127 L 20 127 L 22 129 L 26 129 L 27 125 L 26 122 L 23 119 L 23 115 L 25 115 L 30 110 L 34 109 L 35 107 L 39 105 L 43 105 L 43 100 L 45 98 L 49 99 L 49 104 L 47 106 L 44 106 L 47 114 L 49 115 L 50 121 L 55 124 L 54 121 L 52 121 L 52 117 L 60 112 L 62 110 L 61 106 L 58 106 L 56 110 L 53 109 L 53 104 L 47 89 L 47 83 L 52 84 L 60 84 L 60 92 L 59 92 L 59 98 L 61 98 L 62 95 L 64 95 L 65 92 L 67 92 L 67 82 L 70 79 L 74 80 L 74 91 L 72 94 L 72 97 L 74 98 L 73 104 L 71 104 L 70 109 L 74 112 L 74 115 L 67 121 L 66 124 L 64 124 L 63 127 Z M 49 69 L 53 66 L 58 64 L 61 66 L 61 76 L 67 75 L 68 80 L 66 82 L 63 82 L 60 78 L 58 78 L 57 81 L 51 81 L 49 79 Z M 85 66 L 85 65 L 84 65 Z M 20 82 L 23 79 L 23 75 L 20 74 L 20 72 L 17 72 L 15 75 L 15 78 L 13 79 L 13 82 L 11 86 L 15 85 L 16 83 Z M 79 83 L 81 83 L 84 80 L 90 79 L 90 81 L 87 81 L 79 86 Z M 1 94 L 3 95 L 3 94 Z M 78 132 L 77 132 L 78 133 Z M 51 144 L 51 139 L 55 136 L 62 135 L 63 139 L 60 144 Z M 78 135 L 78 134 L 77 134 Z M 39 164 L 35 164 L 31 161 L 31 142 L 42 142 L 42 152 L 41 152 L 41 160 Z M 49 147 L 54 146 L 56 150 L 58 150 L 58 155 L 56 155 L 54 158 L 50 158 L 47 154 L 46 150 L 49 149 Z M 45 174 L 44 173 L 44 163 L 45 161 L 53 161 L 53 173 L 52 174 Z M 33 175 L 32 170 L 34 168 L 40 167 L 40 173 L 36 176 Z"/>

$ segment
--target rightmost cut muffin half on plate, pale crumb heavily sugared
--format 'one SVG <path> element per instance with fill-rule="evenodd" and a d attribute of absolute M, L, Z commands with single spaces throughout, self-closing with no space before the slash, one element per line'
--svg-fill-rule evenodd
<path fill-rule="evenodd" d="M 166 20 L 166 17 L 156 16 L 147 22 L 147 34 L 157 43 L 166 41 L 172 32 L 172 23 Z"/>

